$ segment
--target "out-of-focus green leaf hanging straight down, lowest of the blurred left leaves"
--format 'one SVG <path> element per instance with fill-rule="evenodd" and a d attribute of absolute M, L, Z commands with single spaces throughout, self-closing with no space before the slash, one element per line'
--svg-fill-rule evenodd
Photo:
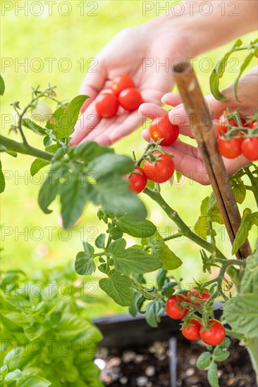
<path fill-rule="evenodd" d="M 59 184 L 63 227 L 70 228 L 82 215 L 85 203 L 90 201 L 92 186 L 78 171 L 69 173 L 68 182 Z"/>

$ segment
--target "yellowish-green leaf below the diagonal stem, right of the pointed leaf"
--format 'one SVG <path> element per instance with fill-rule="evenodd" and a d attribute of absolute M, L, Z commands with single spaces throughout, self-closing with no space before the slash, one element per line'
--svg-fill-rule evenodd
<path fill-rule="evenodd" d="M 162 269 L 174 270 L 182 265 L 183 262 L 180 258 L 166 246 L 162 239 L 152 239 L 150 246 L 152 248 L 152 255 L 162 262 Z"/>

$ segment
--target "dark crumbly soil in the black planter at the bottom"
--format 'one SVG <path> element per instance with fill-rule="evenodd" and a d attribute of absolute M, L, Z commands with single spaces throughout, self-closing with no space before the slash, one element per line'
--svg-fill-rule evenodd
<path fill-rule="evenodd" d="M 100 361 L 103 368 L 101 380 L 105 386 L 170 387 L 170 354 L 172 367 L 174 365 L 177 369 L 177 375 L 173 375 L 174 386 L 209 387 L 207 371 L 196 367 L 202 352 L 204 348 L 198 343 L 178 340 L 177 345 L 168 348 L 168 342 L 156 341 L 152 345 L 132 346 L 126 350 L 99 348 L 97 362 Z M 255 374 L 245 348 L 235 340 L 231 343 L 230 353 L 228 360 L 219 363 L 220 386 L 256 387 Z"/>

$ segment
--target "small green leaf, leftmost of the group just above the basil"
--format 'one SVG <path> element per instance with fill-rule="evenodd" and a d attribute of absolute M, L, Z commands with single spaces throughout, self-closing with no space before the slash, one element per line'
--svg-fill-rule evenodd
<path fill-rule="evenodd" d="M 80 275 L 90 275 L 96 270 L 94 248 L 87 242 L 83 242 L 83 247 L 84 251 L 80 251 L 76 255 L 75 272 Z"/>

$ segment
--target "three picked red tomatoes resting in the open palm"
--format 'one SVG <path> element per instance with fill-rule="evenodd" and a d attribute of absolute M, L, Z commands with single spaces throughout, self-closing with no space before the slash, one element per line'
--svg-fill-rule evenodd
<path fill-rule="evenodd" d="M 95 108 L 102 118 L 112 118 L 118 112 L 119 106 L 133 112 L 143 103 L 140 91 L 135 89 L 135 82 L 128 75 L 119 75 L 106 89 L 97 96 Z"/>

